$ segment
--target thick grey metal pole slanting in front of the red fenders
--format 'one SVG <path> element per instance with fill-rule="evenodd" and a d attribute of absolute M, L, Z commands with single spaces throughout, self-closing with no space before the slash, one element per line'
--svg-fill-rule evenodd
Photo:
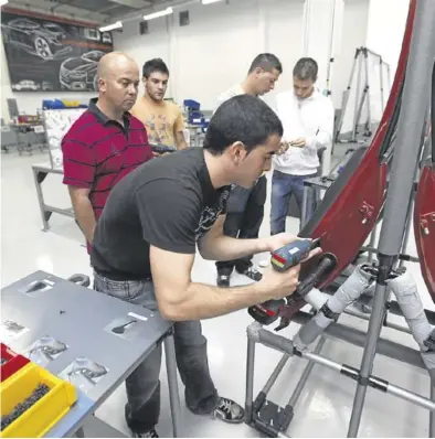
<path fill-rule="evenodd" d="M 348 437 L 357 437 L 369 377 L 373 368 L 376 342 L 385 310 L 389 291 L 386 279 L 403 245 L 406 229 L 406 214 L 411 199 L 414 172 L 422 144 L 421 129 L 424 125 L 427 94 L 431 85 L 433 60 L 435 57 L 435 2 L 416 2 L 415 19 L 402 95 L 401 114 L 397 121 L 397 144 L 390 173 L 385 201 L 385 215 L 379 240 L 379 276 L 374 293 L 369 331 L 358 376 Z M 397 394 L 399 395 L 399 394 Z M 400 395 L 399 395 L 400 396 Z"/>

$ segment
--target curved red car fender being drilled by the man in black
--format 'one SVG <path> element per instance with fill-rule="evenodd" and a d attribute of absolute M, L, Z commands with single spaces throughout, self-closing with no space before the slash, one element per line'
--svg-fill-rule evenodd
<path fill-rule="evenodd" d="M 309 234 L 311 238 L 321 237 L 323 253 L 331 253 L 337 258 L 336 267 L 317 286 L 318 288 L 327 287 L 354 259 L 372 232 L 384 203 L 388 169 L 380 159 L 380 152 L 394 109 L 399 105 L 410 53 L 415 9 L 416 0 L 412 0 L 394 83 L 372 143 L 347 185 Z M 304 264 L 306 267 L 303 268 L 301 278 L 304 278 L 303 272 L 308 272 L 315 263 L 315 260 L 309 260 Z"/>

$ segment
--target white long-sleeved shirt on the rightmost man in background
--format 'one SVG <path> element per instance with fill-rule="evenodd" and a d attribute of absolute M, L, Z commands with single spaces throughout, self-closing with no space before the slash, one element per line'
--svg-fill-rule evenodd
<path fill-rule="evenodd" d="M 274 169 L 291 175 L 309 175 L 317 172 L 318 148 L 327 148 L 330 156 L 333 131 L 333 105 L 329 97 L 315 89 L 312 95 L 298 99 L 293 90 L 276 97 L 276 111 L 284 126 L 283 140 L 306 139 L 304 148 L 289 147 L 287 152 L 274 157 Z"/>

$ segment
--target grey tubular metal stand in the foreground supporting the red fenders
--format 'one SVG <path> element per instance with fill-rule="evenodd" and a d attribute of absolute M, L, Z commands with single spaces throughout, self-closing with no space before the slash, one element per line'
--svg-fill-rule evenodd
<path fill-rule="evenodd" d="M 353 398 L 348 437 L 358 436 L 369 386 L 428 409 L 431 411 L 429 435 L 431 437 L 435 437 L 434 371 L 429 371 L 429 398 L 395 386 L 385 379 L 372 375 L 373 362 L 376 353 L 427 370 L 423 363 L 420 350 L 413 350 L 381 338 L 381 329 L 383 325 L 403 332 L 410 332 L 405 328 L 386 322 L 386 302 L 390 296 L 390 288 L 388 288 L 386 281 L 394 267 L 396 267 L 399 263 L 403 264 L 403 257 L 401 256 L 403 256 L 402 253 L 405 253 L 405 246 L 410 234 L 410 218 L 413 210 L 413 193 L 415 189 L 415 170 L 417 169 L 422 152 L 421 149 L 423 148 L 423 142 L 420 140 L 427 110 L 422 103 L 427 101 L 432 65 L 435 58 L 435 45 L 433 44 L 433 41 L 435 41 L 435 2 L 417 2 L 413 29 L 406 79 L 403 89 L 402 109 L 397 124 L 397 140 L 394 149 L 388 196 L 379 238 L 379 275 L 370 318 L 365 315 L 365 320 L 369 320 L 368 332 L 365 334 L 350 326 L 331 323 L 325 330 L 323 336 L 320 339 L 316 351 L 311 353 L 309 351 L 301 351 L 296 347 L 293 340 L 273 333 L 264 329 L 257 322 L 252 323 L 247 328 L 246 424 L 269 437 L 287 437 L 285 431 L 294 416 L 294 404 L 297 401 L 314 364 L 319 364 L 337 371 L 341 375 L 358 383 Z M 395 307 L 396 304 L 397 303 L 390 302 L 389 308 L 391 312 L 400 314 L 400 311 L 397 312 L 396 309 L 394 310 L 394 308 L 397 308 Z M 425 310 L 425 312 L 429 323 L 434 325 L 435 320 L 434 315 L 432 315 L 433 313 L 427 310 Z M 347 313 L 362 317 L 358 311 L 350 309 Z M 311 317 L 311 314 L 299 311 L 293 317 L 293 321 L 298 324 L 305 324 Z M 339 364 L 320 355 L 319 353 L 325 336 L 338 338 L 363 347 L 360 368 L 347 364 Z M 284 356 L 263 390 L 254 400 L 255 343 L 262 343 L 283 352 Z M 305 370 L 287 406 L 282 408 L 267 400 L 267 393 L 276 382 L 278 374 L 290 356 L 303 357 L 309 360 L 310 363 Z"/>

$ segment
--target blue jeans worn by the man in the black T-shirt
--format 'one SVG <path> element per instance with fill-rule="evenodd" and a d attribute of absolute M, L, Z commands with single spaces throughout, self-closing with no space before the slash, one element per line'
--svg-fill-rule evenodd
<path fill-rule="evenodd" d="M 95 290 L 158 312 L 151 280 L 112 280 L 95 271 L 94 276 Z M 219 396 L 210 376 L 206 339 L 202 335 L 201 322 L 176 322 L 173 336 L 188 408 L 197 415 L 213 413 Z M 126 421 L 135 432 L 148 431 L 159 421 L 160 365 L 161 343 L 126 379 Z"/>

